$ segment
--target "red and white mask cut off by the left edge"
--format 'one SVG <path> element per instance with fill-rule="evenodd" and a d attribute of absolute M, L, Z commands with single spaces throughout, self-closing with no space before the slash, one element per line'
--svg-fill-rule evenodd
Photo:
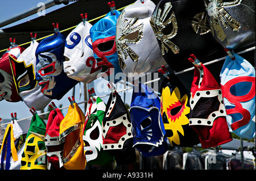
<path fill-rule="evenodd" d="M 16 60 L 23 50 L 24 48 L 18 46 L 10 47 L 0 58 L 0 100 L 5 99 L 9 102 L 22 101 L 16 90 L 9 56 Z"/>

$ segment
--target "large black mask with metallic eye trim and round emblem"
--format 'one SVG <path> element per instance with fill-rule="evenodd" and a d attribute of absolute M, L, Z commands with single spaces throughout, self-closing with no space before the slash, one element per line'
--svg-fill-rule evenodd
<path fill-rule="evenodd" d="M 175 71 L 191 67 L 186 60 L 192 53 L 200 54 L 203 59 L 209 54 L 211 58 L 218 58 L 223 52 L 208 33 L 210 28 L 203 1 L 161 0 L 150 23 L 164 60 Z"/>

